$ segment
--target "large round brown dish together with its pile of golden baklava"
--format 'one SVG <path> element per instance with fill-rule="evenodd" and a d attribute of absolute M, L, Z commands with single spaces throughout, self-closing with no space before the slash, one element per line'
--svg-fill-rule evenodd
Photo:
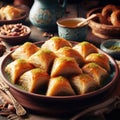
<path fill-rule="evenodd" d="M 92 43 L 58 36 L 20 45 L 3 58 L 0 71 L 20 104 L 50 115 L 95 104 L 113 90 L 119 77 L 114 59 Z"/>

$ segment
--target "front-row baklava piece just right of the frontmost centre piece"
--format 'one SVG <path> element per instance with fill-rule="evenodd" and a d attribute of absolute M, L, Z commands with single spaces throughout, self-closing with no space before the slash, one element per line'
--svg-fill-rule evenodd
<path fill-rule="evenodd" d="M 86 73 L 72 77 L 71 84 L 77 94 L 85 94 L 98 88 L 98 84 L 94 78 Z"/>

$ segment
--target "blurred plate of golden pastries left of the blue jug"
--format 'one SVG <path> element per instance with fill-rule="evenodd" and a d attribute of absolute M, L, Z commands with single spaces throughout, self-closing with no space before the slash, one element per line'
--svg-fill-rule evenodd
<path fill-rule="evenodd" d="M 13 5 L 0 8 L 0 25 L 23 22 L 27 17 L 25 10 Z"/>

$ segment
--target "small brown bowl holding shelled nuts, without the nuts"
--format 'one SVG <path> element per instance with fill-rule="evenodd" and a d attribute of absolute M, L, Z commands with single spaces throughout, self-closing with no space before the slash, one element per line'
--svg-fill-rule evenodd
<path fill-rule="evenodd" d="M 9 26 L 9 25 L 17 25 L 17 24 L 7 24 L 5 26 Z M 3 26 L 1 26 L 1 27 L 3 27 Z M 1 27 L 0 27 L 0 29 L 1 29 Z M 22 25 L 22 27 L 26 29 L 26 33 L 22 36 L 20 36 L 20 35 L 8 36 L 6 34 L 1 34 L 1 32 L 2 32 L 2 30 L 1 30 L 0 31 L 1 40 L 10 44 L 10 45 L 17 45 L 17 44 L 22 44 L 22 43 L 26 42 L 31 34 L 31 29 L 26 25 Z"/>

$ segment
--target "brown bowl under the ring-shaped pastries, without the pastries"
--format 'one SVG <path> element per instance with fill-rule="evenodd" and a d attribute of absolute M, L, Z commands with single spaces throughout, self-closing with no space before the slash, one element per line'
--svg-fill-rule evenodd
<path fill-rule="evenodd" d="M 87 13 L 87 17 L 95 13 L 101 13 L 102 8 L 94 8 Z M 102 39 L 120 38 L 120 27 L 113 25 L 101 24 L 97 19 L 89 21 L 89 27 L 93 35 Z"/>

